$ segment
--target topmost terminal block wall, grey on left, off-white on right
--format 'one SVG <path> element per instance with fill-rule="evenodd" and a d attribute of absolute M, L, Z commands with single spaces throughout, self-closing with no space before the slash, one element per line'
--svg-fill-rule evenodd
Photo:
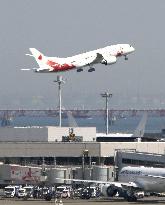
<path fill-rule="evenodd" d="M 83 141 L 96 138 L 96 127 L 75 127 L 76 136 Z M 69 127 L 0 127 L 0 142 L 55 142 L 69 135 Z"/>

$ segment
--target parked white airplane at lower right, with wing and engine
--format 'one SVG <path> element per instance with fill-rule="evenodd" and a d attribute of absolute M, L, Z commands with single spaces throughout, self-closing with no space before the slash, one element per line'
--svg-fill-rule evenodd
<path fill-rule="evenodd" d="M 59 179 L 59 178 L 57 178 Z M 117 193 L 129 202 L 138 199 L 138 192 L 162 193 L 165 190 L 165 169 L 144 166 L 123 167 L 118 181 L 106 182 L 95 180 L 64 179 L 67 181 L 101 184 L 101 192 L 105 197 L 113 197 Z"/>

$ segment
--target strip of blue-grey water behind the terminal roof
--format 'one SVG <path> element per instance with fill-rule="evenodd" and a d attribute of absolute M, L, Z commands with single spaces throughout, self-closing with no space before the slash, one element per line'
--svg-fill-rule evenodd
<path fill-rule="evenodd" d="M 115 123 L 109 126 L 110 132 L 127 132 L 131 133 L 137 127 L 141 117 L 127 117 L 117 119 Z M 105 119 L 101 116 L 94 116 L 91 118 L 76 118 L 78 126 L 83 127 L 96 127 L 97 132 L 105 132 Z M 62 126 L 72 127 L 68 124 L 68 119 L 62 119 Z M 58 126 L 58 117 L 16 117 L 11 121 L 11 126 Z M 165 117 L 148 117 L 146 124 L 146 132 L 161 132 L 165 128 Z"/>

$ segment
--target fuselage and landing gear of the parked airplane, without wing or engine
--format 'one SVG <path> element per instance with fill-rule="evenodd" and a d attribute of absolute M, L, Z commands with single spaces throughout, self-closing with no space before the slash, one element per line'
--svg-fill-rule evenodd
<path fill-rule="evenodd" d="M 118 176 L 119 181 L 129 182 L 123 184 L 128 201 L 136 201 L 136 192 L 162 193 L 165 190 L 165 169 L 156 167 L 123 167 Z"/>

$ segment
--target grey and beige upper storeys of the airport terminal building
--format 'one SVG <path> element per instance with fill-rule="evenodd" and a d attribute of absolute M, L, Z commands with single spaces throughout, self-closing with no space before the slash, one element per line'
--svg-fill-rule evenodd
<path fill-rule="evenodd" d="M 1 127 L 0 160 L 5 163 L 81 165 L 86 164 L 115 165 L 116 152 L 151 153 L 164 156 L 165 142 L 97 142 L 95 127 L 72 128 L 77 141 L 66 141 L 70 127 Z M 122 156 L 124 155 L 122 154 Z M 154 166 L 152 155 L 148 166 Z M 120 154 L 121 156 L 121 154 Z M 127 164 L 137 165 L 140 155 L 129 155 Z M 145 161 L 145 155 L 140 156 Z M 118 157 L 119 158 L 119 157 Z M 164 157 L 162 157 L 163 159 Z M 149 159 L 147 159 L 149 161 Z M 118 160 L 121 167 L 124 160 Z M 126 162 L 126 159 L 125 159 Z M 164 162 L 163 162 L 164 163 Z M 163 163 L 161 166 L 164 166 Z M 119 165 L 120 164 L 120 165 Z M 144 165 L 140 164 L 139 165 Z M 158 166 L 158 165 L 156 165 Z"/>

